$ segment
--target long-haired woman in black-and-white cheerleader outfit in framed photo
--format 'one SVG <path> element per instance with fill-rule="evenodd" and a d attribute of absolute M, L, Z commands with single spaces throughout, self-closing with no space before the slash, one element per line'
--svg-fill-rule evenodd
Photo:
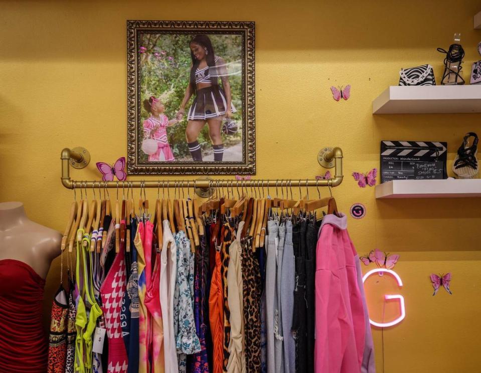
<path fill-rule="evenodd" d="M 179 120 L 185 114 L 185 106 L 192 95 L 192 102 L 187 114 L 186 139 L 194 161 L 202 161 L 201 146 L 198 141 L 202 128 L 209 126 L 209 137 L 214 151 L 214 161 L 222 161 L 224 144 L 221 126 L 224 117 L 230 118 L 236 112 L 231 102 L 231 89 L 227 76 L 225 61 L 216 56 L 211 40 L 207 35 L 197 35 L 190 42 L 191 74 L 184 100 L 177 113 Z M 219 85 L 219 77 L 222 87 Z"/>

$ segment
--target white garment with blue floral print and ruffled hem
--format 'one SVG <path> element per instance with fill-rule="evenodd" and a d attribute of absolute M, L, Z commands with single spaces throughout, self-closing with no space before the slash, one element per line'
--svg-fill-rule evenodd
<path fill-rule="evenodd" d="M 194 320 L 194 253 L 184 231 L 176 236 L 177 282 L 174 292 L 174 332 L 179 373 L 187 372 L 187 354 L 199 352 L 201 344 Z"/>

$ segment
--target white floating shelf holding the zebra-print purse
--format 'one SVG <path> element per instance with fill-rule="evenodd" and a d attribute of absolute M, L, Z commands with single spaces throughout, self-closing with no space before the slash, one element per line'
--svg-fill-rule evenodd
<path fill-rule="evenodd" d="M 373 101 L 373 114 L 480 112 L 481 85 L 390 86 Z"/>

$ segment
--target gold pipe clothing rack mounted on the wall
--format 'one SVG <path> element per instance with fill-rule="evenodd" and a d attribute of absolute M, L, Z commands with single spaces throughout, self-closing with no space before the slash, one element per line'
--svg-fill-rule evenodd
<path fill-rule="evenodd" d="M 334 166 L 334 177 L 330 179 L 210 179 L 203 177 L 194 180 L 129 180 L 129 181 L 77 181 L 70 178 L 70 165 L 74 168 L 84 168 L 90 162 L 90 153 L 83 147 L 64 148 L 60 156 L 62 160 L 62 185 L 68 189 L 80 188 L 195 188 L 201 197 L 212 195 L 215 188 L 231 186 L 339 186 L 343 181 L 343 151 L 340 147 L 324 148 L 319 152 L 319 163 L 325 168 Z M 322 158 L 322 159 L 321 159 Z"/>

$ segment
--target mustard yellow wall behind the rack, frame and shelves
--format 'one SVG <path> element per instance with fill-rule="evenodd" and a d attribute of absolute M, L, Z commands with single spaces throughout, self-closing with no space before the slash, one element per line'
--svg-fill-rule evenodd
<path fill-rule="evenodd" d="M 450 164 L 463 133 L 481 130 L 478 114 L 371 114 L 371 102 L 398 81 L 401 67 L 430 63 L 454 32 L 466 51 L 464 77 L 479 59 L 475 0 L 389 1 L 10 1 L 0 12 L 0 200 L 22 201 L 32 220 L 64 229 L 73 194 L 60 183 L 60 150 L 86 146 L 92 155 L 76 179 L 98 177 L 95 161 L 126 154 L 127 19 L 256 22 L 256 137 L 260 178 L 306 178 L 321 171 L 319 148 L 341 146 L 346 178 L 334 191 L 348 211 L 360 254 L 375 247 L 399 253 L 407 316 L 374 330 L 378 371 L 479 371 L 481 201 L 376 201 L 354 170 L 379 166 L 381 139 L 448 142 Z M 331 85 L 352 85 L 335 102 Z M 314 191 L 311 191 L 311 193 Z M 154 191 L 150 191 L 154 198 Z M 326 193 L 323 191 L 323 193 Z M 50 271 L 46 311 L 58 287 Z M 452 273 L 453 295 L 431 296 L 431 272 Z M 376 286 L 367 289 L 374 302 Z M 47 317 L 48 318 L 48 317 Z M 384 359 L 383 359 L 384 354 Z"/>

